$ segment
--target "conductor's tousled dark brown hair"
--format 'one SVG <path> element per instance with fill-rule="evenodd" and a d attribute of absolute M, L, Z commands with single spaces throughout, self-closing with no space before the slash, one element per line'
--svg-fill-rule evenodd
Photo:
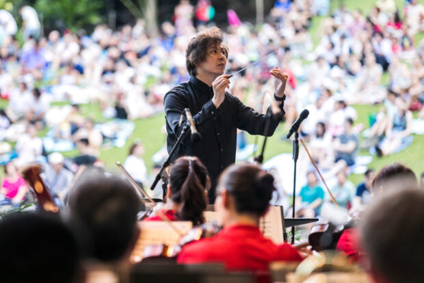
<path fill-rule="evenodd" d="M 206 60 L 207 49 L 210 46 L 220 45 L 224 41 L 224 35 L 218 27 L 211 27 L 196 34 L 189 42 L 185 51 L 185 64 L 190 75 L 197 75 L 196 64 Z M 222 45 L 225 49 L 225 56 L 228 58 L 228 47 Z"/>

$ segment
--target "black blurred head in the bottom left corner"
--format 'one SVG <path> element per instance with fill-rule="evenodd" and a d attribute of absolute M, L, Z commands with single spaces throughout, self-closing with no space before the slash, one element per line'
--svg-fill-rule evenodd
<path fill-rule="evenodd" d="M 33 212 L 0 221 L 1 282 L 77 282 L 75 238 L 57 218 Z"/>

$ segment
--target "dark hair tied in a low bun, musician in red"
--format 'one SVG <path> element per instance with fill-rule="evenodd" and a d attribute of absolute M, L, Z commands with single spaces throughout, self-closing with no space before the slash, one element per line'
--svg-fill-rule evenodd
<path fill-rule="evenodd" d="M 238 213 L 255 214 L 261 217 L 267 211 L 272 193 L 276 190 L 274 177 L 252 164 L 236 164 L 222 173 L 217 186 L 233 196 Z"/>

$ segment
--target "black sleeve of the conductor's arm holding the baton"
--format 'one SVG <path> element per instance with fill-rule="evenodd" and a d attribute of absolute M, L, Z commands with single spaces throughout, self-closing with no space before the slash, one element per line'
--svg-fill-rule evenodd
<path fill-rule="evenodd" d="M 187 101 L 185 101 L 185 99 L 183 99 L 183 97 L 177 93 L 168 93 L 165 95 L 163 106 L 165 107 L 166 121 L 168 121 L 172 127 L 174 134 L 178 135 L 181 132 L 181 129 L 183 129 L 184 125 L 187 123 L 187 121 L 183 121 L 181 126 L 178 126 L 180 123 L 181 115 L 184 114 L 184 109 L 188 107 Z M 202 110 L 193 116 L 193 121 L 196 124 L 196 130 L 198 130 L 198 132 L 202 132 L 202 129 L 205 128 L 205 122 L 217 116 L 219 113 L 220 110 L 215 108 L 212 100 L 204 103 Z"/>

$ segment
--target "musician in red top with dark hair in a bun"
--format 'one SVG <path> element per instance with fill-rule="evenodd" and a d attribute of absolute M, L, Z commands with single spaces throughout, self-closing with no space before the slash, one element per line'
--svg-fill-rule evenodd
<path fill-rule="evenodd" d="M 274 177 L 252 164 L 237 164 L 222 173 L 215 210 L 224 228 L 212 238 L 189 243 L 179 263 L 222 262 L 230 271 L 267 271 L 274 260 L 300 261 L 289 244 L 276 245 L 259 230 L 276 188 Z"/>

